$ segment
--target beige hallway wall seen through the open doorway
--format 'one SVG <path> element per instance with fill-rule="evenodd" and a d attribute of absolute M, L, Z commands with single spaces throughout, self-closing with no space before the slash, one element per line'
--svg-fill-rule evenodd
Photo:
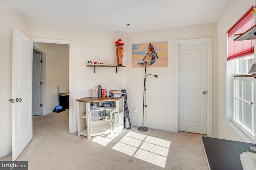
<path fill-rule="evenodd" d="M 58 105 L 59 93 L 69 92 L 69 45 L 52 43 L 34 43 L 46 54 L 46 112 L 52 113 Z"/>

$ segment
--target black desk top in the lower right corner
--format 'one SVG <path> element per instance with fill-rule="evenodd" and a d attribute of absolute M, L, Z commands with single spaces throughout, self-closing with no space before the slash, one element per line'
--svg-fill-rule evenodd
<path fill-rule="evenodd" d="M 243 170 L 240 154 L 250 152 L 256 144 L 211 137 L 202 137 L 211 170 Z"/>

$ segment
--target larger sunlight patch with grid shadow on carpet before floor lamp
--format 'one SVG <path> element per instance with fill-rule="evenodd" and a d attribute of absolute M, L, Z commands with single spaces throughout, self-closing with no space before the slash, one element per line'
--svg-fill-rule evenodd
<path fill-rule="evenodd" d="M 164 168 L 170 144 L 171 141 L 130 131 L 112 149 Z"/>

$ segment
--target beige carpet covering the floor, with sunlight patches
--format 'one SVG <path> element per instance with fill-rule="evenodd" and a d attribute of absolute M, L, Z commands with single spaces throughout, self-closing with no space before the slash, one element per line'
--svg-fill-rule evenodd
<path fill-rule="evenodd" d="M 207 170 L 202 136 L 132 127 L 88 141 L 68 133 L 63 111 L 33 116 L 33 139 L 17 160 L 28 161 L 29 170 Z"/>

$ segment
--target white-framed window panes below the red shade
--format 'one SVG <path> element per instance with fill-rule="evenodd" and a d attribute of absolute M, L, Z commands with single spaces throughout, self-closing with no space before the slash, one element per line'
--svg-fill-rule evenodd
<path fill-rule="evenodd" d="M 244 77 L 254 55 L 232 61 L 234 77 L 233 122 L 254 139 L 254 77 Z M 242 75 L 241 75 L 242 74 Z"/>

